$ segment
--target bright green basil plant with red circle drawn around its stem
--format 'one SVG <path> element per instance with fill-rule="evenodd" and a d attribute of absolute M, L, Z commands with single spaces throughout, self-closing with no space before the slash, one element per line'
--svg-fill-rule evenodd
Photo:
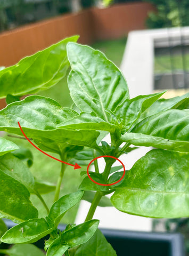
<path fill-rule="evenodd" d="M 0 130 L 23 136 L 19 122 L 36 147 L 50 155 L 56 153 L 61 161 L 82 166 L 107 156 L 105 168 L 100 170 L 93 161 L 91 179 L 81 169 L 83 181 L 78 190 L 60 197 L 67 166 L 62 163 L 54 203 L 48 209 L 40 193 L 43 189 L 19 157 L 26 152 L 19 152 L 15 143 L 0 137 L 0 236 L 1 242 L 15 244 L 0 253 L 44 255 L 30 243 L 48 235 L 47 256 L 116 255 L 98 229 L 99 220 L 93 219 L 103 199 L 122 212 L 144 217 L 189 215 L 189 93 L 172 99 L 160 99 L 165 92 L 130 99 L 121 71 L 102 52 L 76 43 L 77 39 L 66 38 L 0 71 L 0 97 L 9 103 L 0 111 Z M 22 95 L 55 85 L 70 67 L 71 108 L 39 95 L 20 100 Z M 107 134 L 111 143 L 104 141 Z M 153 149 L 120 180 L 122 166 L 112 167 L 113 163 L 139 146 Z M 46 218 L 38 218 L 30 194 L 43 202 Z M 110 199 L 108 194 L 112 194 Z M 86 195 L 91 198 L 91 207 L 85 222 L 78 226 L 70 223 L 60 231 L 58 225 L 64 214 Z M 17 225 L 6 230 L 3 218 Z"/>

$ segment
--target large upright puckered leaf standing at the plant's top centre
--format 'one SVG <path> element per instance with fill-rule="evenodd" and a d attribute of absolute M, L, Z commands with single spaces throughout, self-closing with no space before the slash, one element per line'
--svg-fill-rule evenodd
<path fill-rule="evenodd" d="M 114 111 L 129 98 L 124 76 L 103 53 L 89 46 L 69 43 L 67 51 L 72 68 L 68 86 L 73 102 L 82 111 L 94 111 L 108 122 L 105 109 Z"/>

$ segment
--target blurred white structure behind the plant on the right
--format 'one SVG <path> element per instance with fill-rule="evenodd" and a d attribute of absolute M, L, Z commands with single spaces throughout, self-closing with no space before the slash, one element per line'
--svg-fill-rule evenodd
<path fill-rule="evenodd" d="M 180 28 L 171 28 L 132 31 L 129 33 L 121 70 L 129 86 L 130 98 L 153 92 L 154 46 L 168 46 L 168 38 L 170 37 L 171 43 L 180 43 L 181 32 L 186 41 L 186 36 L 189 35 L 189 27 L 182 28 L 182 31 Z M 166 38 L 167 40 L 165 40 Z M 173 38 L 174 40 L 172 40 Z M 141 147 L 128 155 L 121 156 L 120 160 L 125 164 L 126 170 L 129 170 L 137 159 L 145 155 L 150 149 L 149 147 Z M 90 205 L 88 202 L 81 201 L 76 219 L 77 223 L 85 220 Z M 100 219 L 101 228 L 141 231 L 152 229 L 151 218 L 122 213 L 114 207 L 97 207 L 94 218 Z"/>

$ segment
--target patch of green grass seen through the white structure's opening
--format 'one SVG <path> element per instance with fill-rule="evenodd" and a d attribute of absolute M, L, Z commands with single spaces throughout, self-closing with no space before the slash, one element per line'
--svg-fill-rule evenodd
<path fill-rule="evenodd" d="M 171 73 L 171 62 L 174 66 L 174 70 L 183 70 L 182 55 L 162 55 L 156 56 L 154 59 L 154 73 Z M 185 54 L 185 66 L 186 70 L 189 70 L 189 54 Z"/>

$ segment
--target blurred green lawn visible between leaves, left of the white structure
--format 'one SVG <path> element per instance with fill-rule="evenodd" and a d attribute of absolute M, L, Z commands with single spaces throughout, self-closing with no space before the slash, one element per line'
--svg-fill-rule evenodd
<path fill-rule="evenodd" d="M 117 66 L 120 66 L 125 45 L 126 39 L 118 39 L 113 41 L 97 42 L 93 44 L 92 47 L 104 52 L 111 61 L 116 63 Z M 61 106 L 69 107 L 72 104 L 67 84 L 67 76 L 55 86 L 48 90 L 40 91 L 37 94 L 56 100 L 60 103 Z M 32 154 L 34 155 L 34 165 L 31 166 L 31 172 L 35 175 L 36 178 L 56 184 L 61 168 L 61 163 L 43 155 L 37 149 L 32 147 L 28 141 L 15 139 L 12 137 L 9 137 L 8 139 L 12 140 L 20 147 L 26 147 L 31 150 Z M 57 155 L 53 156 L 57 157 Z M 82 171 L 85 171 L 84 168 L 85 167 L 82 167 Z M 73 167 L 68 166 L 67 170 L 65 170 L 63 178 L 61 195 L 76 191 L 81 180 L 80 169 L 73 170 Z M 50 207 L 53 203 L 54 193 L 48 193 L 43 195 L 43 197 L 47 205 Z M 31 195 L 31 201 L 39 210 L 39 217 L 44 217 L 46 215 L 46 210 L 44 209 L 44 206 L 39 201 L 39 199 L 35 195 Z M 68 211 L 62 219 L 62 223 L 73 223 L 77 214 L 77 210 L 78 205 Z"/>

